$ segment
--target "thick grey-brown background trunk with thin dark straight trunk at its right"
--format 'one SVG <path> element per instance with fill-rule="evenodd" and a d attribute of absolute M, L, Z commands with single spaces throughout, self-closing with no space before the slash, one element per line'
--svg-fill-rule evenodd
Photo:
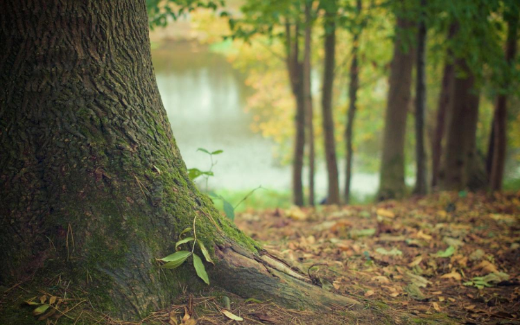
<path fill-rule="evenodd" d="M 406 192 L 404 183 L 404 136 L 406 116 L 410 103 L 412 85 L 413 51 L 410 46 L 404 51 L 403 34 L 410 30 L 411 21 L 397 17 L 394 58 L 390 64 L 390 89 L 386 107 L 383 132 L 383 156 L 379 200 L 402 197 Z"/>

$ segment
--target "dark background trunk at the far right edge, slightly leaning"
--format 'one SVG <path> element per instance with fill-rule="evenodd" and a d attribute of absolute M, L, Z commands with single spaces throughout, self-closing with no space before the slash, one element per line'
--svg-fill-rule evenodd
<path fill-rule="evenodd" d="M 517 30 L 519 24 L 520 6 L 516 1 L 510 1 L 509 8 L 505 10 L 504 20 L 508 24 L 508 36 L 505 43 L 505 65 L 506 69 L 502 70 L 503 88 L 507 88 L 512 82 L 512 76 L 515 74 L 514 58 L 517 53 Z M 489 150 L 489 161 L 491 161 L 489 186 L 492 191 L 500 191 L 502 189 L 503 173 L 505 166 L 505 148 L 507 143 L 507 103 L 508 97 L 505 91 L 502 91 L 496 98 L 496 108 L 494 111 L 492 136 L 489 143 L 492 150 Z"/>

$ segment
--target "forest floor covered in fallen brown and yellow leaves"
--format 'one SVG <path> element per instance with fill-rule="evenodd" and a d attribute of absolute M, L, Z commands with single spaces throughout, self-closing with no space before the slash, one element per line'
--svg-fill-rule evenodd
<path fill-rule="evenodd" d="M 107 315 L 85 323 L 82 311 L 74 324 L 520 324 L 520 192 L 251 210 L 235 222 L 363 310 L 288 310 L 212 290 L 137 323 Z"/>

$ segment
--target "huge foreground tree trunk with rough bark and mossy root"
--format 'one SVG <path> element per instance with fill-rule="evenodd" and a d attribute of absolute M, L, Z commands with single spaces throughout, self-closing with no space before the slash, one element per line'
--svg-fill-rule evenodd
<path fill-rule="evenodd" d="M 168 306 L 178 283 L 202 285 L 190 263 L 159 276 L 156 261 L 195 225 L 215 258 L 212 284 L 298 308 L 338 302 L 220 217 L 190 181 L 155 83 L 144 1 L 5 5 L 1 285 L 36 290 L 59 275 L 98 311 L 142 316 Z M 15 317 L 2 312 L 0 323 Z"/>

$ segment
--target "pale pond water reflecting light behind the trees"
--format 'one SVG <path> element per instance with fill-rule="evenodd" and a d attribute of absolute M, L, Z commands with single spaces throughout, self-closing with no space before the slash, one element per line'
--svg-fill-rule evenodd
<path fill-rule="evenodd" d="M 291 189 L 291 167 L 279 166 L 271 154 L 274 143 L 250 130 L 251 116 L 243 109 L 250 90 L 222 55 L 185 42 L 155 49 L 152 58 L 162 101 L 188 168 L 209 168 L 209 157 L 197 148 L 224 150 L 216 156 L 209 188 Z M 326 192 L 323 168 L 316 175 L 318 197 Z M 377 176 L 355 174 L 352 185 L 357 193 L 374 193 Z"/>

